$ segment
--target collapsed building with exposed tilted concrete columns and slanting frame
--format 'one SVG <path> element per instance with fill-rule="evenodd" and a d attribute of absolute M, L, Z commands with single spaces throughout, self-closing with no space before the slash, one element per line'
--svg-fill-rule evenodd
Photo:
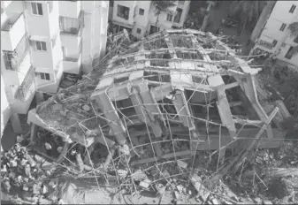
<path fill-rule="evenodd" d="M 281 145 L 284 105 L 259 101 L 259 70 L 217 36 L 185 29 L 113 41 L 92 72 L 28 113 L 31 144 L 42 129 L 63 140 L 61 153 L 47 156 L 56 163 L 84 176 L 132 176 L 133 167 L 177 163 L 197 150 L 218 150 L 224 159 L 226 149 L 247 148 L 264 125 L 259 147 Z M 80 169 L 67 157 L 76 145 Z"/>

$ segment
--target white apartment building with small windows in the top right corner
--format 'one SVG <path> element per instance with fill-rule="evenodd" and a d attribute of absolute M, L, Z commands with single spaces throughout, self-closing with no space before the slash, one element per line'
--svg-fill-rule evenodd
<path fill-rule="evenodd" d="M 274 54 L 298 69 L 298 54 L 293 52 L 298 46 L 298 36 L 291 35 L 288 30 L 293 22 L 298 22 L 298 1 L 277 1 L 250 54 Z"/>

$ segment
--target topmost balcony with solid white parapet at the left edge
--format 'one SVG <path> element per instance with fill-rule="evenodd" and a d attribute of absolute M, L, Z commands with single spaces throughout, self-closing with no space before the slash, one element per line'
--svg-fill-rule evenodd
<path fill-rule="evenodd" d="M 26 34 L 23 13 L 14 14 L 1 27 L 1 49 L 14 50 Z"/>

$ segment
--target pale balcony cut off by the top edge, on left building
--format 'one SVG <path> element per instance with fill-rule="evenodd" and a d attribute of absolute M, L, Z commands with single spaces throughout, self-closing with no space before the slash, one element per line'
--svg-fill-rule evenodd
<path fill-rule="evenodd" d="M 59 14 L 62 17 L 79 18 L 80 1 L 59 1 Z"/>

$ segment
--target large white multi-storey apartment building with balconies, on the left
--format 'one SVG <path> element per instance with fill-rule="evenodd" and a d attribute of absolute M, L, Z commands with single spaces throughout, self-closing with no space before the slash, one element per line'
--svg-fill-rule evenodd
<path fill-rule="evenodd" d="M 36 91 L 55 94 L 64 72 L 103 57 L 108 11 L 108 1 L 1 1 L 1 128 L 10 119 L 20 133 Z"/>

